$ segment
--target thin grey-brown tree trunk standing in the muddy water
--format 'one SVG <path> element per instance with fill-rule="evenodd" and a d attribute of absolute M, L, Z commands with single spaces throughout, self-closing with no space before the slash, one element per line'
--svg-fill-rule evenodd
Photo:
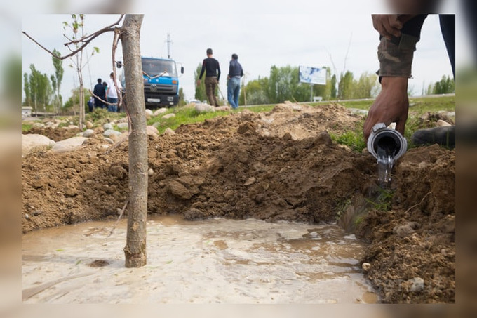
<path fill-rule="evenodd" d="M 129 135 L 129 204 L 126 235 L 126 267 L 146 265 L 147 220 L 147 133 L 140 53 L 143 15 L 126 15 L 121 29 L 124 74 L 128 88 L 127 105 L 131 127 Z"/>

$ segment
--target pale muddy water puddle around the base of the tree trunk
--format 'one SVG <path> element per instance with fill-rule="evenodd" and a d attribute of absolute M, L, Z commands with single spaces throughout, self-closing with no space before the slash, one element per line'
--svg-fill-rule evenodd
<path fill-rule="evenodd" d="M 147 265 L 124 267 L 126 220 L 22 236 L 24 303 L 375 303 L 364 245 L 337 225 L 148 220 Z"/>

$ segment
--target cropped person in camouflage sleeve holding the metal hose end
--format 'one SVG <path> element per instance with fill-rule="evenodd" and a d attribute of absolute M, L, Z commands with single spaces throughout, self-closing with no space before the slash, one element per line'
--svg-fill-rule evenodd
<path fill-rule="evenodd" d="M 390 0 L 391 4 L 398 1 Z M 438 0 L 403 1 L 410 4 L 410 12 L 425 12 L 434 9 Z M 431 6 L 434 4 L 434 6 Z M 406 7 L 408 8 L 408 7 Z M 371 105 L 368 118 L 363 126 L 365 140 L 377 123 L 396 123 L 396 130 L 404 134 L 408 119 L 408 79 L 411 77 L 412 58 L 420 39 L 421 28 L 426 14 L 372 15 L 372 22 L 380 34 L 378 46 L 379 82 L 381 92 Z M 452 73 L 455 77 L 455 15 L 439 15 L 441 31 L 448 51 Z M 455 147 L 455 126 L 420 129 L 412 135 L 415 145 L 438 143 Z"/>

